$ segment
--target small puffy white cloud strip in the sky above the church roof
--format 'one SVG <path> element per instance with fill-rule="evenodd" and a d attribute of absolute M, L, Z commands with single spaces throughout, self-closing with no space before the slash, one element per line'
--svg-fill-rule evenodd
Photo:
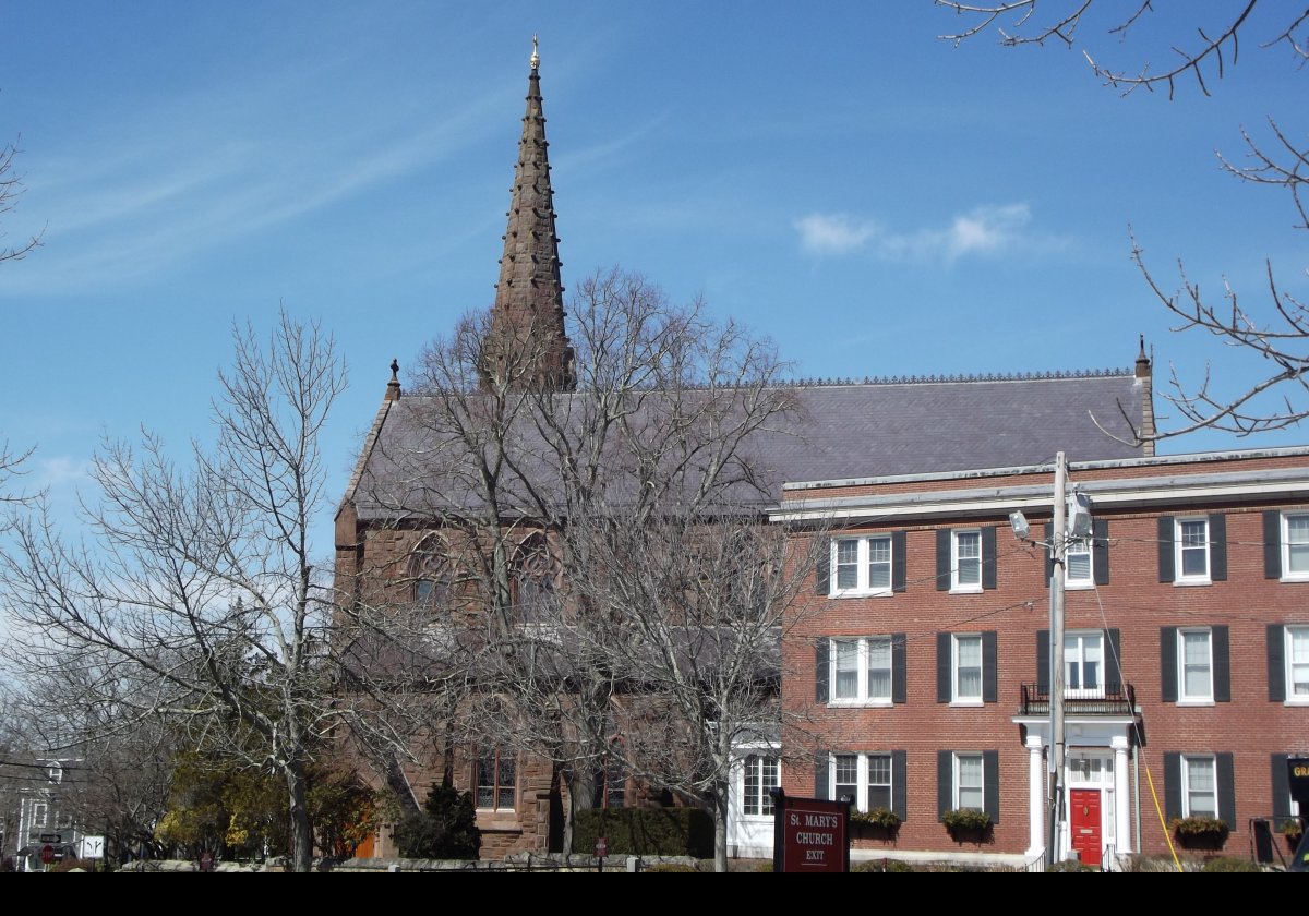
<path fill-rule="evenodd" d="M 967 255 L 996 255 L 1017 249 L 1050 250 L 1062 242 L 1030 232 L 1031 208 L 1025 203 L 974 207 L 949 225 L 895 232 L 872 220 L 843 213 L 810 213 L 796 220 L 800 247 L 816 255 L 868 253 L 893 262 L 952 263 Z"/>

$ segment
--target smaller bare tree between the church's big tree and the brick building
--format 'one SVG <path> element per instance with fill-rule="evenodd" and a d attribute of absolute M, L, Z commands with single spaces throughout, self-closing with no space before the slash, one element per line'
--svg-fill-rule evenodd
<path fill-rule="evenodd" d="M 573 588 L 594 608 L 579 641 L 615 671 L 614 754 L 645 784 L 703 803 L 715 820 L 715 868 L 728 869 L 729 784 L 749 752 L 780 756 L 781 641 L 804 623 L 793 599 L 813 581 L 818 538 L 734 502 L 666 504 L 640 526 L 588 520 L 567 539 L 588 556 Z M 791 671 L 789 677 L 796 677 Z"/>

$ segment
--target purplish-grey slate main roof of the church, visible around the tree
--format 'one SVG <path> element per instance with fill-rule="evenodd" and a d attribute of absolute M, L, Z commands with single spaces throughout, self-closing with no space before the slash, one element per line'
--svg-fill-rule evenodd
<path fill-rule="evenodd" d="M 1064 451 L 1072 461 L 1139 458 L 1121 437 L 1126 411 L 1141 423 L 1143 379 L 1132 372 L 1013 378 L 914 379 L 800 385 L 791 389 L 800 411 L 785 429 L 755 433 L 745 448 L 764 493 L 749 500 L 775 504 L 787 482 L 851 480 L 919 472 L 1039 465 Z M 558 394 L 585 398 L 585 393 Z M 452 454 L 433 442 L 423 423 L 424 396 L 384 404 L 365 442 L 346 500 L 363 520 L 421 513 L 424 478 L 452 492 L 458 476 Z M 533 451 L 530 433 L 524 449 Z M 550 468 L 542 466 L 545 478 Z"/>

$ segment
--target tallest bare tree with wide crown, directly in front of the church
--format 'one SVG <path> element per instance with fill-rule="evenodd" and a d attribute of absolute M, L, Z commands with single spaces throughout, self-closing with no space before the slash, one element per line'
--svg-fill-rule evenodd
<path fill-rule="evenodd" d="M 796 407 L 768 343 L 709 321 L 700 302 L 670 306 L 640 276 L 590 277 L 569 311 L 576 391 L 531 383 L 530 344 L 497 351 L 499 372 L 486 373 L 491 323 L 469 318 L 425 353 L 415 395 L 397 406 L 408 432 L 384 437 L 361 492 L 397 526 L 440 539 L 441 569 L 411 561 L 408 581 L 437 584 L 452 629 L 462 627 L 448 639 L 473 646 L 448 739 L 550 762 L 571 828 L 613 755 L 615 697 L 631 688 L 606 640 L 635 625 L 581 588 L 613 559 L 581 533 L 669 512 L 758 512 L 766 491 L 749 442 Z"/>

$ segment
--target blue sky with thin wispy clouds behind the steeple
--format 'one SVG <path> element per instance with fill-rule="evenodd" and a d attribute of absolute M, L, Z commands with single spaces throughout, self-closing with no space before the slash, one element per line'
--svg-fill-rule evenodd
<path fill-rule="evenodd" d="M 1230 9 L 1081 37 L 1161 60 Z M 957 48 L 928 0 L 4 0 L 0 141 L 21 137 L 26 192 L 0 230 L 45 246 L 0 266 L 0 438 L 37 446 L 25 483 L 63 505 L 102 436 L 144 424 L 181 454 L 211 434 L 233 321 L 284 306 L 348 362 L 340 493 L 390 360 L 492 300 L 533 33 L 565 284 L 620 266 L 703 294 L 797 377 L 1128 366 L 1145 334 L 1157 378 L 1213 360 L 1236 386 L 1238 353 L 1169 332 L 1128 225 L 1169 288 L 1182 258 L 1262 308 L 1272 258 L 1305 293 L 1289 202 L 1215 156 L 1270 115 L 1309 124 L 1261 10 L 1212 97 L 1169 101 L 1101 86 L 1080 50 Z"/>

